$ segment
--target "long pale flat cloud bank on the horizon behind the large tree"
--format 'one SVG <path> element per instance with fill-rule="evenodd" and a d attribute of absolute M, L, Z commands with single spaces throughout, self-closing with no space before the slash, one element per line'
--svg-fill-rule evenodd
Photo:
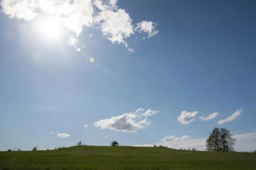
<path fill-rule="evenodd" d="M 233 138 L 236 138 L 237 141 L 235 142 L 234 149 L 236 151 L 254 151 L 256 148 L 256 133 L 247 133 L 247 134 L 237 134 L 233 135 Z M 194 138 L 194 139 L 187 139 L 181 141 L 162 141 L 159 143 L 155 143 L 155 145 L 163 145 L 168 146 L 170 148 L 197 148 L 199 151 L 205 151 L 205 142 L 207 138 Z M 153 144 L 146 144 L 146 145 L 134 145 L 134 146 L 146 146 L 146 147 L 153 147 Z"/>

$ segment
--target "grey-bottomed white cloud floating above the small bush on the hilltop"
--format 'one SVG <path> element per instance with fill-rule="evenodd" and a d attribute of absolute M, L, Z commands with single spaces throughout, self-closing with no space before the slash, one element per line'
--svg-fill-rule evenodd
<path fill-rule="evenodd" d="M 138 129 L 145 128 L 150 125 L 151 122 L 142 117 L 152 116 L 153 114 L 158 113 L 158 111 L 152 111 L 148 109 L 146 112 L 145 109 L 138 109 L 134 113 L 125 113 L 121 116 L 114 116 L 109 119 L 100 120 L 94 123 L 94 126 L 101 129 L 112 129 L 116 131 L 124 131 L 124 132 L 137 132 Z"/>

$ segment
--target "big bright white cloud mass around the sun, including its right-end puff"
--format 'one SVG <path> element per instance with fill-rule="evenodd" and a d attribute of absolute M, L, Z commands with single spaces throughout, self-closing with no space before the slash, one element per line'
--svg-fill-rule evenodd
<path fill-rule="evenodd" d="M 84 27 L 100 28 L 110 41 L 122 43 L 129 48 L 125 39 L 134 35 L 134 31 L 146 32 L 148 37 L 158 33 L 156 24 L 143 21 L 134 28 L 130 15 L 117 5 L 117 0 L 2 0 L 2 12 L 11 18 L 32 20 L 42 10 L 46 14 L 56 15 L 63 26 L 75 32 L 69 44 L 79 43 L 77 38 Z M 89 37 L 91 37 L 90 35 Z M 131 51 L 131 48 L 129 48 Z"/>

